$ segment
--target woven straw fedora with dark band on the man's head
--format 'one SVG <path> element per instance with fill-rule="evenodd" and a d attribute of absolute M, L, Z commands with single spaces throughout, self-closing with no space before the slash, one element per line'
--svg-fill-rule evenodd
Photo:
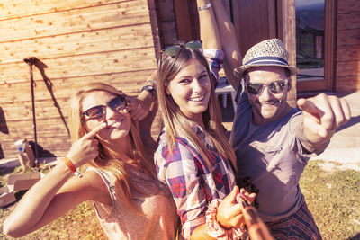
<path fill-rule="evenodd" d="M 300 72 L 297 67 L 290 67 L 288 64 L 289 52 L 285 49 L 284 43 L 278 39 L 263 40 L 247 50 L 242 60 L 242 66 L 234 69 L 235 76 L 242 78 L 244 72 L 252 67 L 285 67 L 289 69 L 290 75 Z"/>

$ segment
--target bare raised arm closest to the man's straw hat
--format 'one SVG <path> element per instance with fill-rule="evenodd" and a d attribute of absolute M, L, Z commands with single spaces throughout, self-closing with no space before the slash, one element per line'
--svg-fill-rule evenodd
<path fill-rule="evenodd" d="M 235 90 L 238 90 L 238 84 L 241 79 L 234 76 L 234 68 L 242 65 L 242 56 L 238 49 L 238 41 L 235 35 L 234 25 L 232 24 L 229 14 L 226 12 L 225 7 L 221 0 L 212 0 L 217 28 L 220 32 L 221 49 L 225 53 L 224 71 L 226 78 Z"/>

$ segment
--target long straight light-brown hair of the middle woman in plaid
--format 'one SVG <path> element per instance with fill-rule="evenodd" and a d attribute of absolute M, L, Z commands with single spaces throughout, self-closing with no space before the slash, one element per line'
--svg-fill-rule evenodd
<path fill-rule="evenodd" d="M 166 129 L 167 144 L 169 149 L 175 147 L 175 138 L 179 133 L 184 134 L 193 143 L 194 147 L 199 151 L 205 163 L 210 167 L 209 157 L 210 150 L 205 143 L 199 138 L 192 129 L 193 122 L 186 118 L 184 113 L 180 111 L 173 97 L 166 94 L 166 84 L 173 80 L 175 76 L 188 65 L 191 59 L 198 60 L 204 67 L 208 76 L 211 77 L 210 69 L 206 58 L 202 52 L 197 49 L 188 49 L 184 44 L 180 44 L 180 51 L 175 57 L 167 56 L 166 53 L 161 55 L 161 59 L 157 66 L 157 96 Z M 208 108 L 202 113 L 202 120 L 205 129 L 217 149 L 219 154 L 232 164 L 234 170 L 237 169 L 236 157 L 228 139 L 224 135 L 221 123 L 220 105 L 215 93 L 215 83 L 211 79 L 211 93 Z"/>

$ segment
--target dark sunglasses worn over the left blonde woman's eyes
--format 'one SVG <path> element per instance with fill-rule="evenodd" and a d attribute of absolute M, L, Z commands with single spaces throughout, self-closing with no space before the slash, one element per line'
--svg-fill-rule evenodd
<path fill-rule="evenodd" d="M 126 101 L 125 95 L 118 95 L 110 102 L 107 103 L 106 106 L 104 105 L 98 105 L 94 106 L 86 111 L 84 111 L 81 116 L 86 116 L 87 120 L 100 120 L 102 119 L 106 114 L 106 108 L 109 107 L 112 109 L 112 111 L 121 111 L 128 105 L 128 102 Z"/>

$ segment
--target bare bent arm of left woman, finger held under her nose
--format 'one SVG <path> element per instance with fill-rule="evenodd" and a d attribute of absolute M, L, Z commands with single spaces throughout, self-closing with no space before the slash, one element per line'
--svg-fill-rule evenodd
<path fill-rule="evenodd" d="M 101 128 L 103 127 L 94 130 Z M 94 132 L 80 138 L 67 154 L 76 167 L 93 159 L 97 153 L 96 140 L 92 134 Z M 14 211 L 4 220 L 4 234 L 14 237 L 29 234 L 65 215 L 85 200 L 111 204 L 106 186 L 97 173 L 89 171 L 82 178 L 70 178 L 71 176 L 67 165 L 59 162 L 26 192 Z"/>

